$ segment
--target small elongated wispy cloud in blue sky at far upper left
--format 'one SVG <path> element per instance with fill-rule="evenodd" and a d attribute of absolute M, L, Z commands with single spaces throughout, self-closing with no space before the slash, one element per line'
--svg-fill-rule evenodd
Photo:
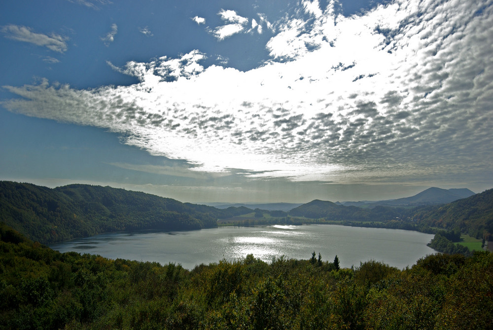
<path fill-rule="evenodd" d="M 3 26 L 0 32 L 6 38 L 33 43 L 55 52 L 64 53 L 67 50 L 67 43 L 65 42 L 67 38 L 60 35 L 43 35 L 33 32 L 29 27 L 13 24 Z"/>

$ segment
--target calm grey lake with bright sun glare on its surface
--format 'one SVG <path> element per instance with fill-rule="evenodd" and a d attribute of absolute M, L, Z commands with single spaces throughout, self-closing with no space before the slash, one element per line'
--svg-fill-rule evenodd
<path fill-rule="evenodd" d="M 360 261 L 377 260 L 402 269 L 435 251 L 426 246 L 433 235 L 416 231 L 363 228 L 342 225 L 272 225 L 220 227 L 191 231 L 138 231 L 79 238 L 50 247 L 60 252 L 75 251 L 111 259 L 180 263 L 193 269 L 200 263 L 229 261 L 252 254 L 271 262 L 285 256 L 309 259 L 312 252 L 322 260 L 337 255 L 341 267 L 359 266 Z"/>

